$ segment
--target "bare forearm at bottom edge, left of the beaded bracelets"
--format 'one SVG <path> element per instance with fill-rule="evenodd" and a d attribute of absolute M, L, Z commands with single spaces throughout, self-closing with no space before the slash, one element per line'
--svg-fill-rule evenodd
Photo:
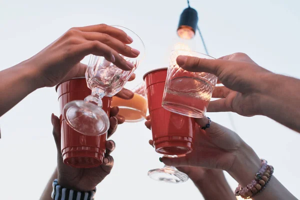
<path fill-rule="evenodd" d="M 194 181 L 205 200 L 223 199 L 236 200 L 221 170 L 207 170 L 205 177 Z"/>

